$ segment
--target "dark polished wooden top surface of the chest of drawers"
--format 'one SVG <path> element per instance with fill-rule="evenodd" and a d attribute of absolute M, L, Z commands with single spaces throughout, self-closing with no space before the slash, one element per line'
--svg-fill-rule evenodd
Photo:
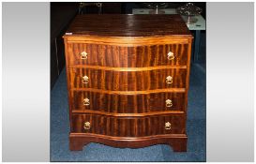
<path fill-rule="evenodd" d="M 180 15 L 78 15 L 67 33 L 97 37 L 191 36 Z"/>

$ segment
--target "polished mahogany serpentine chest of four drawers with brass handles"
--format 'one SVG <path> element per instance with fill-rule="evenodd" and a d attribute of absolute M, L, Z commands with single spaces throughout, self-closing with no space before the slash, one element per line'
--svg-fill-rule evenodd
<path fill-rule="evenodd" d="M 179 15 L 79 15 L 64 36 L 69 149 L 187 151 L 192 36 Z"/>

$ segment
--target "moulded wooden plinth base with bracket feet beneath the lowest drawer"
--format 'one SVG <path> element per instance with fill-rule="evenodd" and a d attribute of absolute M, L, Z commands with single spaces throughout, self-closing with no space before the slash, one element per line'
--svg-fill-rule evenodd
<path fill-rule="evenodd" d="M 140 138 L 112 137 L 88 133 L 71 133 L 69 136 L 69 149 L 73 151 L 83 150 L 83 146 L 89 142 L 98 142 L 114 147 L 140 148 L 154 144 L 169 144 L 174 152 L 187 151 L 188 137 L 185 134 L 156 135 Z"/>

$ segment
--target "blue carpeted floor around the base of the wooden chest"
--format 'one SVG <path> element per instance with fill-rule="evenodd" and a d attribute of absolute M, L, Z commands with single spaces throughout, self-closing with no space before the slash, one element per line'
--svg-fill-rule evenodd
<path fill-rule="evenodd" d="M 83 151 L 68 150 L 68 93 L 65 69 L 51 93 L 51 161 L 205 161 L 206 87 L 205 70 L 191 66 L 188 92 L 188 152 L 174 153 L 165 144 L 138 149 L 113 148 L 89 143 Z"/>

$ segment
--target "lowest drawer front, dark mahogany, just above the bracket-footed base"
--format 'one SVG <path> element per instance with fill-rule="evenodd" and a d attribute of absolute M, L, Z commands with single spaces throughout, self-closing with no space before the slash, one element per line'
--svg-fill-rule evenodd
<path fill-rule="evenodd" d="M 72 114 L 73 133 L 94 133 L 116 137 L 143 137 L 184 134 L 184 114 L 152 117 L 111 117 L 98 114 Z"/>

